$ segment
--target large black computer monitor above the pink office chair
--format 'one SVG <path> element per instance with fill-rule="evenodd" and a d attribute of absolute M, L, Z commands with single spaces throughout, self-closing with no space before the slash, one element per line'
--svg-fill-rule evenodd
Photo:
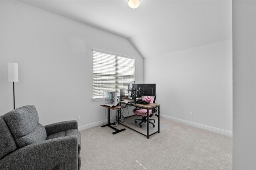
<path fill-rule="evenodd" d="M 138 84 L 138 97 L 156 96 L 156 84 Z"/>

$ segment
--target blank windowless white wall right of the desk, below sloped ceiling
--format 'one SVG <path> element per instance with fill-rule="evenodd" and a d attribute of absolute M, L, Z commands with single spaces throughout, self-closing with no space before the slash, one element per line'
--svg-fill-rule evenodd
<path fill-rule="evenodd" d="M 232 135 L 232 40 L 160 54 L 144 65 L 162 115 Z"/>

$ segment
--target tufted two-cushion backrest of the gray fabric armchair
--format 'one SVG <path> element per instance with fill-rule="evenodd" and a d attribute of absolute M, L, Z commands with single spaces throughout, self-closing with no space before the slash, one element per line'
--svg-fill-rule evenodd
<path fill-rule="evenodd" d="M 46 130 L 38 123 L 38 113 L 33 105 L 19 107 L 1 116 L 18 148 L 46 140 Z"/>

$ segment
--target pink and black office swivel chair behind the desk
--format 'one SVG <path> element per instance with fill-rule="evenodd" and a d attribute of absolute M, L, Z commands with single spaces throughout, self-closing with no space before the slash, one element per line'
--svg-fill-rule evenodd
<path fill-rule="evenodd" d="M 142 100 L 146 100 L 150 103 L 155 103 L 156 101 L 156 96 L 143 96 L 142 97 Z M 135 119 L 135 123 L 137 123 L 137 120 L 138 121 L 141 121 L 140 122 L 140 127 L 142 127 L 141 123 L 144 122 L 146 123 L 147 121 L 147 109 L 141 109 L 141 108 L 135 108 L 133 109 L 132 111 L 135 115 L 139 115 L 139 116 L 142 116 L 142 119 Z M 149 117 L 152 117 L 153 113 L 152 113 L 152 109 L 148 110 L 148 115 Z M 148 119 L 148 122 L 151 123 L 153 125 L 153 127 L 155 127 L 154 123 L 152 123 L 150 120 L 153 120 L 154 123 L 156 122 L 155 119 Z"/>

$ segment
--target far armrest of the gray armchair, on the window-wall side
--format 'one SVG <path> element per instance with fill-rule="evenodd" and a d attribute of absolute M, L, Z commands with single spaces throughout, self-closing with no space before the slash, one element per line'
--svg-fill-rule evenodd
<path fill-rule="evenodd" d="M 54 133 L 66 131 L 68 129 L 78 129 L 78 123 L 76 120 L 62 121 L 58 123 L 52 123 L 50 125 L 45 125 L 44 128 L 46 130 L 47 136 L 49 136 Z"/>

